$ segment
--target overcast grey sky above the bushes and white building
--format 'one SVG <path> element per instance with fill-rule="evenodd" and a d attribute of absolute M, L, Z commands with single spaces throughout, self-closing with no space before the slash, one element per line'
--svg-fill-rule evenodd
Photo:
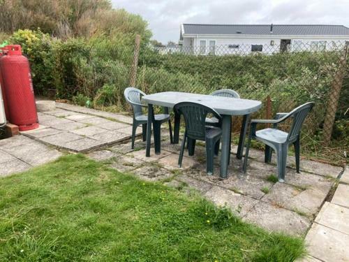
<path fill-rule="evenodd" d="M 349 27 L 349 0 L 112 0 L 112 4 L 142 15 L 153 39 L 162 43 L 177 43 L 182 23 Z"/>

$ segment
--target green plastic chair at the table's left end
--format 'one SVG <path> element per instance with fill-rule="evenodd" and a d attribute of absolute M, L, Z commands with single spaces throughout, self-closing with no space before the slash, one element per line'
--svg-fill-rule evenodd
<path fill-rule="evenodd" d="M 143 114 L 142 108 L 147 108 L 147 105 L 141 103 L 142 96 L 145 96 L 144 92 L 140 91 L 135 87 L 127 87 L 124 91 L 125 99 L 131 104 L 133 109 L 133 124 L 132 124 L 132 138 L 131 138 L 131 148 L 135 146 L 135 131 L 138 126 L 142 124 L 142 139 L 145 141 L 147 139 L 147 119 L 148 115 Z M 158 136 L 160 140 L 161 136 L 161 124 L 168 122 L 170 129 L 170 141 L 172 143 L 172 126 L 170 120 L 170 114 L 168 113 L 168 108 L 163 108 L 164 113 L 159 115 L 154 115 L 153 125 L 154 125 L 154 136 Z"/>

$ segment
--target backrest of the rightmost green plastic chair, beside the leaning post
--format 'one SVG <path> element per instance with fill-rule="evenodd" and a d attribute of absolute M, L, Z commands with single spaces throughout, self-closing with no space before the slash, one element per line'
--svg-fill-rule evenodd
<path fill-rule="evenodd" d="M 299 131 L 301 131 L 302 128 L 302 124 L 313 106 L 314 102 L 304 103 L 303 105 L 299 105 L 298 108 L 295 108 L 285 116 L 285 119 L 292 117 L 292 126 L 290 133 L 288 133 L 288 140 L 290 142 L 297 140 Z"/>

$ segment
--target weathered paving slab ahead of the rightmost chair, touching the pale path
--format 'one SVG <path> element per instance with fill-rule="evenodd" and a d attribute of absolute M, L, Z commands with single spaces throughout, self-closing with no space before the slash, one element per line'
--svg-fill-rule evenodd
<path fill-rule="evenodd" d="M 277 182 L 269 193 L 265 194 L 262 201 L 313 218 L 325 201 L 329 189 L 331 184 L 328 184 L 326 189 L 322 189 L 314 186 L 300 188 Z"/>

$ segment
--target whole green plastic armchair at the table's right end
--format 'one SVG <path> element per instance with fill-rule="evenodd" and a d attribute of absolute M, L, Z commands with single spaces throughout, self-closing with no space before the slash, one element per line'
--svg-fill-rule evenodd
<path fill-rule="evenodd" d="M 277 168 L 279 182 L 285 182 L 286 160 L 288 146 L 293 144 L 295 147 L 296 170 L 299 173 L 299 154 L 300 154 L 300 130 L 306 119 L 306 115 L 313 108 L 314 103 L 304 103 L 288 113 L 278 113 L 275 119 L 253 119 L 251 120 L 251 128 L 248 136 L 246 154 L 244 159 L 243 170 L 246 173 L 248 150 L 251 145 L 251 139 L 265 143 L 265 163 L 272 160 L 272 150 L 275 150 L 277 157 Z M 292 126 L 289 133 L 277 129 L 277 125 L 292 117 Z M 256 131 L 257 124 L 273 124 L 272 129 L 262 129 Z"/>

